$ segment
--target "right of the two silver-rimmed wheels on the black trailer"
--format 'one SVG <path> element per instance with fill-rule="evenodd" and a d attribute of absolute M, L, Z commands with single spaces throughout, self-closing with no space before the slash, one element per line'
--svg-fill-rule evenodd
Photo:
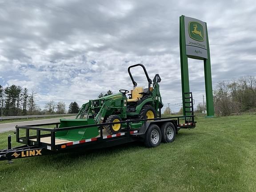
<path fill-rule="evenodd" d="M 167 122 L 161 126 L 162 142 L 170 143 L 174 141 L 176 129 L 171 122 Z"/>

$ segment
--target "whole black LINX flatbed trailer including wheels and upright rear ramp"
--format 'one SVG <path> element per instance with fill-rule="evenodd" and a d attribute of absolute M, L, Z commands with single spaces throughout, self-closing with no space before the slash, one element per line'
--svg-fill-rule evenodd
<path fill-rule="evenodd" d="M 63 153 L 74 151 L 74 149 L 91 150 L 97 148 L 112 147 L 115 145 L 130 143 L 134 141 L 144 141 L 147 147 L 156 147 L 160 142 L 168 143 L 175 139 L 176 133 L 181 128 L 195 128 L 196 121 L 193 114 L 192 93 L 188 116 L 172 116 L 172 117 L 159 117 L 155 119 L 137 119 L 126 120 L 112 123 L 91 124 L 83 126 L 74 126 L 66 128 L 58 128 L 60 123 L 50 124 L 34 124 L 27 126 L 16 126 L 16 142 L 24 144 L 19 147 L 12 148 L 11 135 L 8 136 L 8 148 L 0 150 L 0 160 L 8 160 L 12 163 L 13 159 L 42 156 L 55 153 Z M 180 123 L 181 120 L 184 123 Z M 142 123 L 140 128 L 131 128 L 131 124 Z M 109 135 L 104 125 L 122 124 L 126 125 L 117 134 Z M 40 126 L 54 125 L 55 128 L 42 128 Z M 64 140 L 55 137 L 56 132 L 98 127 L 99 135 L 85 140 Z M 20 136 L 20 130 L 25 130 L 25 136 Z M 30 135 L 34 130 L 36 135 Z M 46 133 L 47 132 L 47 133 Z"/>

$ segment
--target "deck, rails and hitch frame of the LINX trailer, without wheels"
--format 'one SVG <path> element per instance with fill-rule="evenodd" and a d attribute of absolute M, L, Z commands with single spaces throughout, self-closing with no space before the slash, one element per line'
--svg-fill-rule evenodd
<path fill-rule="evenodd" d="M 190 122 L 180 124 L 181 119 L 191 118 Z M 144 121 L 144 124 L 141 128 L 132 129 L 130 127 L 131 123 L 136 123 Z M 108 124 L 127 124 L 126 128 L 123 128 L 121 132 L 113 135 L 108 135 L 107 132 L 104 132 L 104 125 Z M 93 125 L 86 126 L 75 126 L 68 128 L 58 128 L 60 123 L 51 123 L 51 124 L 35 124 L 27 126 L 16 126 L 16 141 L 18 143 L 24 144 L 23 146 L 14 147 L 11 146 L 11 136 L 8 136 L 8 148 L 0 150 L 0 160 L 8 160 L 12 162 L 12 159 L 19 159 L 24 157 L 32 156 L 42 156 L 54 153 L 69 152 L 73 149 L 83 148 L 83 149 L 97 149 L 97 148 L 106 148 L 119 144 L 125 144 L 133 141 L 144 141 L 146 140 L 146 135 L 148 128 L 152 125 L 157 125 L 161 128 L 163 124 L 172 123 L 175 126 L 175 135 L 181 128 L 195 128 L 196 122 L 194 121 L 194 116 L 174 116 L 174 117 L 164 117 L 156 119 L 142 119 L 142 120 L 128 120 L 121 121 L 116 123 L 104 123 L 97 124 L 99 127 L 99 136 L 79 141 L 71 140 L 61 140 L 55 138 L 55 133 L 58 131 L 72 130 L 78 128 L 89 128 L 95 127 Z M 56 128 L 41 128 L 40 126 L 45 125 L 56 125 Z M 25 136 L 20 137 L 20 130 L 25 130 Z M 35 136 L 30 136 L 29 133 L 31 130 L 36 130 Z M 50 132 L 46 134 L 41 134 L 41 132 Z M 174 138 L 173 138 L 174 140 Z M 155 147 L 155 146 L 148 146 Z"/>

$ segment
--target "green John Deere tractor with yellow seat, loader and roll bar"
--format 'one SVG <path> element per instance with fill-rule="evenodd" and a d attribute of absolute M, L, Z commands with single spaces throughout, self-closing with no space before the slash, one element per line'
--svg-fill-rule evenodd
<path fill-rule="evenodd" d="M 130 69 L 140 66 L 143 68 L 148 80 L 148 87 L 137 87 Z M 120 122 L 129 119 L 153 119 L 160 116 L 159 109 L 163 107 L 159 91 L 161 78 L 158 74 L 152 80 L 143 64 L 135 64 L 128 67 L 128 73 L 131 77 L 133 90 L 120 89 L 119 93 L 100 97 L 96 100 L 89 100 L 80 108 L 76 119 L 60 119 L 60 128 L 81 126 L 88 124 L 100 124 Z M 128 97 L 126 96 L 128 94 Z M 133 127 L 132 127 L 133 126 Z M 131 128 L 139 128 L 140 124 L 132 124 Z M 120 132 L 122 124 L 104 126 L 109 134 Z M 82 140 L 98 136 L 98 127 L 74 129 L 68 132 L 57 132 L 56 137 L 69 140 Z"/>

